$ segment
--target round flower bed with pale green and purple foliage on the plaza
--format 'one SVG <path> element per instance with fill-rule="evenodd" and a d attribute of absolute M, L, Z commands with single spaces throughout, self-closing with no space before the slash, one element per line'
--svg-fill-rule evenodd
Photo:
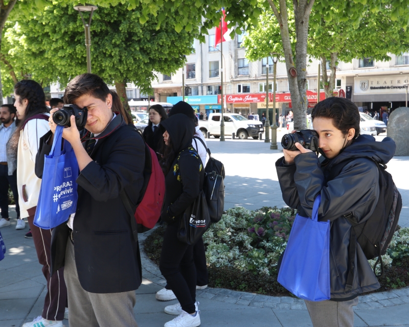
<path fill-rule="evenodd" d="M 290 208 L 262 207 L 248 211 L 231 208 L 203 235 L 209 284 L 267 295 L 289 295 L 277 283 L 277 263 L 284 251 L 295 218 Z M 157 228 L 145 241 L 149 258 L 159 263 L 165 227 Z M 388 253 L 382 256 L 381 288 L 409 286 L 409 228 L 395 232 Z M 375 260 L 371 260 L 373 265 Z"/>

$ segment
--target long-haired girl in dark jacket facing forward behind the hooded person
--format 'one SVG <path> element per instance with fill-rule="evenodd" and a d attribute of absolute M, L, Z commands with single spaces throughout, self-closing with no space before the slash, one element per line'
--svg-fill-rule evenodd
<path fill-rule="evenodd" d="M 160 150 L 163 132 L 160 131 L 159 124 L 168 118 L 165 109 L 160 104 L 155 104 L 149 108 L 149 123 L 142 136 L 146 144 L 155 152 Z"/>

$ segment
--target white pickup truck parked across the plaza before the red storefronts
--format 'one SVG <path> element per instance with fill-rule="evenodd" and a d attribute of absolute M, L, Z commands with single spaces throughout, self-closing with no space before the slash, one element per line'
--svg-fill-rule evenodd
<path fill-rule="evenodd" d="M 221 113 L 211 113 L 208 121 L 199 121 L 200 131 L 207 137 L 207 133 L 216 138 L 220 137 L 220 119 Z M 244 118 L 238 113 L 223 113 L 224 135 L 235 133 L 240 139 L 246 139 L 248 136 L 259 138 L 259 133 L 264 132 L 263 124 L 260 121 L 252 121 Z"/>

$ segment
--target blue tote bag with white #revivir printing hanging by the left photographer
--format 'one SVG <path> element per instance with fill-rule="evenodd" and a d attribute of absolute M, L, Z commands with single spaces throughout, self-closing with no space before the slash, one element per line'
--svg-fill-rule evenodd
<path fill-rule="evenodd" d="M 78 162 L 68 141 L 64 140 L 61 151 L 63 128 L 57 126 L 50 155 L 44 158 L 40 195 L 34 216 L 34 225 L 43 229 L 51 229 L 67 221 L 77 208 Z"/>

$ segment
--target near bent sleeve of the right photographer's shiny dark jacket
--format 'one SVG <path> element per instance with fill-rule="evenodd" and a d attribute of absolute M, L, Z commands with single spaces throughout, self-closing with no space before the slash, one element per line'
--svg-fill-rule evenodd
<path fill-rule="evenodd" d="M 370 217 L 379 197 L 379 172 L 372 160 L 351 160 L 327 184 L 315 153 L 302 153 L 294 158 L 294 162 L 297 167 L 294 174 L 297 193 L 309 217 L 318 194 L 321 194 L 318 212 L 321 221 L 332 221 L 349 213 L 357 222 Z"/>

